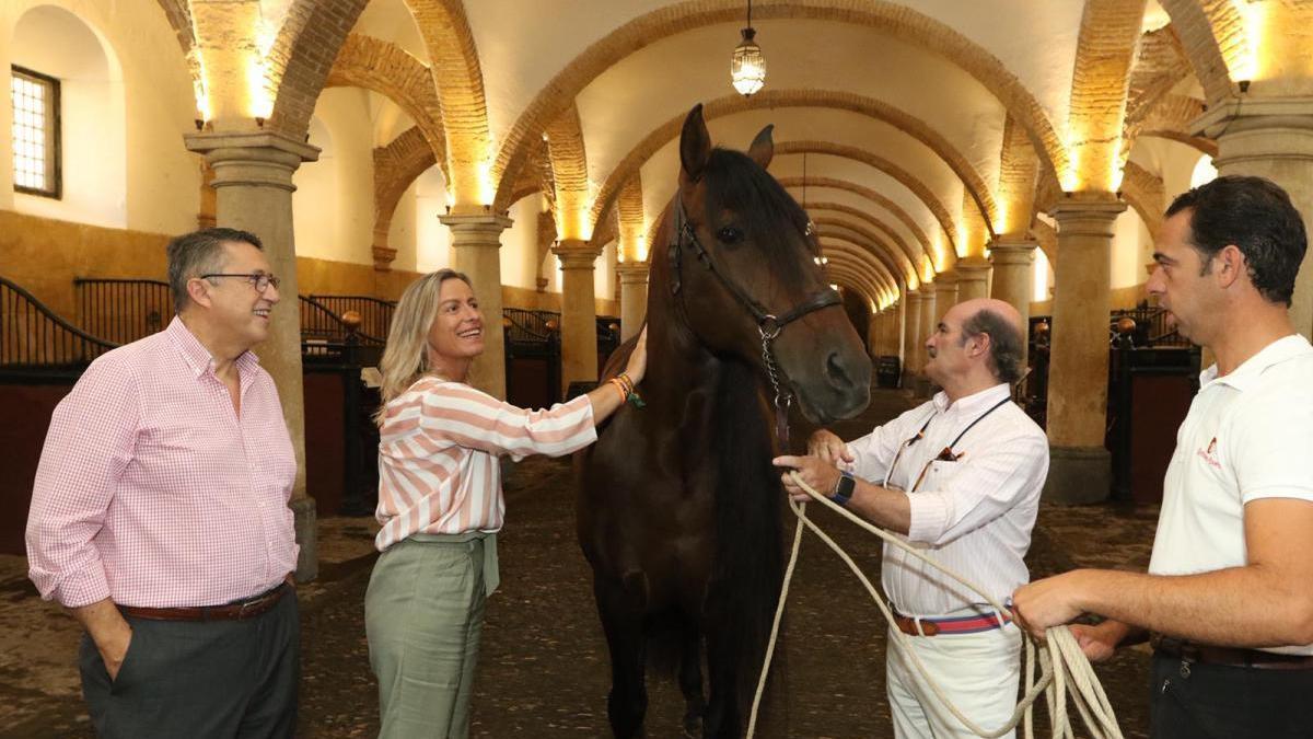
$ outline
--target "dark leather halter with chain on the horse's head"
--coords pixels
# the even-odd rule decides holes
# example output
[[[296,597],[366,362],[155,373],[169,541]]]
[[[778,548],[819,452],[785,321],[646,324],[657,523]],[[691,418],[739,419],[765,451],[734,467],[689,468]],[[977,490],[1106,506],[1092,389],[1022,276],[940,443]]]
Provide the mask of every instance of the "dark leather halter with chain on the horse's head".
[[[810,224],[807,224],[807,233],[810,233]],[[693,255],[697,256],[697,260],[701,262],[712,272],[712,275],[721,281],[722,285],[725,285],[725,289],[730,291],[730,295],[738,300],[739,305],[747,309],[747,312],[752,314],[752,318],[756,318],[756,330],[762,335],[762,360],[765,363],[765,371],[771,379],[771,387],[775,389],[775,435],[780,441],[781,451],[788,451],[789,405],[793,404],[793,393],[780,381],[780,370],[775,363],[775,351],[772,345],[789,323],[802,318],[807,313],[829,308],[831,305],[839,305],[842,302],[839,293],[832,289],[821,291],[811,295],[783,316],[771,313],[752,296],[750,296],[738,283],[735,283],[716,262],[712,252],[706,251],[706,247],[704,247],[702,242],[697,238],[697,231],[693,230],[692,224],[688,221],[688,214],[684,212],[684,199],[681,193],[675,193],[675,238],[671,241],[668,247],[671,295],[679,295],[683,288],[680,254],[685,247],[691,249]]]

